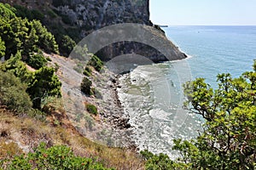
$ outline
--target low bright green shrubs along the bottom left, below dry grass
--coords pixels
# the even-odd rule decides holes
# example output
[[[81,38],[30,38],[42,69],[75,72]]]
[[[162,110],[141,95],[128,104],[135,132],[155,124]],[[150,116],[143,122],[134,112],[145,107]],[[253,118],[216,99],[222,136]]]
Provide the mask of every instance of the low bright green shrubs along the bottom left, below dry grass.
[[[73,151],[67,146],[56,145],[46,148],[44,143],[27,156],[15,156],[13,160],[5,161],[8,169],[108,169],[94,159],[74,156]]]

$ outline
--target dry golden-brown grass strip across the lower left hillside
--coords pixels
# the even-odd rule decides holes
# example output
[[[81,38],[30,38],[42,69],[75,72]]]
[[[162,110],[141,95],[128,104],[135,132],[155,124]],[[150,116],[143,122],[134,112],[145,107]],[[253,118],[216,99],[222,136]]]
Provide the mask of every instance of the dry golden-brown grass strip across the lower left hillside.
[[[144,169],[143,160],[134,151],[93,143],[76,131],[63,112],[51,111],[48,122],[40,122],[0,109],[0,133],[3,134],[0,136],[0,159],[32,151],[44,142],[48,146],[68,145],[75,155],[97,157],[106,167]],[[54,124],[55,119],[60,122],[59,125]]]

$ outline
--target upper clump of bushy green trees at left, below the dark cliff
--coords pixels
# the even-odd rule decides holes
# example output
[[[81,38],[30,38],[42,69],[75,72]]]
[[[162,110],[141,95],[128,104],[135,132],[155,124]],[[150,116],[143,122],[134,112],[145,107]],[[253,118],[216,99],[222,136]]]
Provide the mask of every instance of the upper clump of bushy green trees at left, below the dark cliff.
[[[58,53],[55,37],[40,21],[21,19],[14,11],[16,9],[9,4],[0,3],[0,37],[5,44],[5,59],[20,51],[22,59],[26,60],[29,54],[37,53],[38,48]]]

